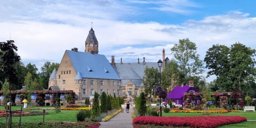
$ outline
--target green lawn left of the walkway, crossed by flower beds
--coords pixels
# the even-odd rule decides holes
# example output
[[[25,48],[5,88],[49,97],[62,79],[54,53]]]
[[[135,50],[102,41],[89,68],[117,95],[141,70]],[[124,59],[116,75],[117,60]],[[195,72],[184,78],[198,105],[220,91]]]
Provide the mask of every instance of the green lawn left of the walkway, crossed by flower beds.
[[[32,107],[36,108],[36,107]],[[46,108],[46,107],[40,107]],[[12,107],[12,110],[20,110],[20,107]],[[43,111],[43,110],[30,110],[30,111]],[[57,122],[57,121],[76,121],[77,111],[61,110],[60,113],[56,113],[54,110],[45,110],[49,114],[45,115],[45,122]],[[6,118],[0,118],[0,122],[5,123]],[[26,122],[43,122],[43,115],[40,116],[22,116],[22,123]],[[19,122],[19,117],[12,117],[12,122]]]

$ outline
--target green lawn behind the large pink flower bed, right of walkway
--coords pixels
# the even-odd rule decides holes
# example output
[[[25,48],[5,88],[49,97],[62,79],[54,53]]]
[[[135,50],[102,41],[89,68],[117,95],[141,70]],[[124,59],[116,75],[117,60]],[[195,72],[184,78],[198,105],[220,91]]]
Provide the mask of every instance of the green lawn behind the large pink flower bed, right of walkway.
[[[202,113],[162,113],[162,116],[206,116]],[[208,116],[208,115],[207,115]],[[228,112],[224,114],[210,114],[210,116],[244,116],[247,120],[256,120],[256,112],[253,111],[240,111],[240,112]],[[220,126],[218,128],[256,128],[256,121],[246,121],[242,123],[229,124],[225,126]]]

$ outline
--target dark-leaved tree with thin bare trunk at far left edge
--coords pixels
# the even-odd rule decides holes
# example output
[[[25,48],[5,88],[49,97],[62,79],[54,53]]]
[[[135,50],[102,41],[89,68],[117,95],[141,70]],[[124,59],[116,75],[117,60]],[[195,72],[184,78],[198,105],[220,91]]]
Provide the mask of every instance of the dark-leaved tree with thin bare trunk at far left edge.
[[[9,91],[12,91],[12,88],[15,87],[19,79],[17,78],[17,73],[15,69],[15,64],[20,61],[20,56],[17,55],[15,51],[18,48],[14,45],[14,40],[7,40],[7,42],[0,42],[0,70],[5,75],[5,79],[9,82]],[[13,86],[12,86],[13,85]],[[12,95],[11,95],[12,99]],[[12,113],[12,103],[10,104],[9,111]],[[7,119],[8,120],[8,119]],[[6,121],[7,122],[7,121]],[[9,114],[9,121],[7,123],[8,127],[12,127],[12,114]]]

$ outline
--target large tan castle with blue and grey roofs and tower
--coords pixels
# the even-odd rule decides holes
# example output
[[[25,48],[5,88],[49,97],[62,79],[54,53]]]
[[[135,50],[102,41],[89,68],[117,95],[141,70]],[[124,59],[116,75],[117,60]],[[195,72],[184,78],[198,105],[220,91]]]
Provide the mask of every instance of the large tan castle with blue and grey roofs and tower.
[[[137,63],[115,62],[111,57],[111,63],[104,55],[98,54],[99,43],[91,28],[85,40],[85,52],[79,52],[77,48],[66,50],[59,69],[54,69],[49,78],[49,88],[56,90],[73,90],[78,98],[93,97],[95,92],[116,96],[131,97],[140,95],[144,91],[142,77],[146,66],[159,70],[157,62],[143,62],[138,58]],[[163,50],[163,58],[165,51]],[[163,66],[169,62],[164,59]],[[164,67],[165,68],[165,67]],[[161,68],[161,71],[164,69]]]

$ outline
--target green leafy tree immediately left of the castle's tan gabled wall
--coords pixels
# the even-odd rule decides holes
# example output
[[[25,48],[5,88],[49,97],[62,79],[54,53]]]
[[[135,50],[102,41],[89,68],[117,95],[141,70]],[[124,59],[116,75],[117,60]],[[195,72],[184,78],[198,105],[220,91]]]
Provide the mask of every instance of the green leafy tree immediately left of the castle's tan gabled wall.
[[[54,62],[45,62],[45,64],[41,67],[41,73],[39,73],[39,79],[40,79],[40,83],[43,85],[43,88],[48,88],[48,82],[49,82],[49,78],[50,75],[54,69],[54,67],[56,67],[56,69],[59,68],[59,63],[54,63]]]

